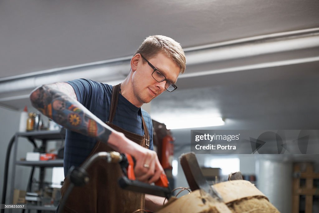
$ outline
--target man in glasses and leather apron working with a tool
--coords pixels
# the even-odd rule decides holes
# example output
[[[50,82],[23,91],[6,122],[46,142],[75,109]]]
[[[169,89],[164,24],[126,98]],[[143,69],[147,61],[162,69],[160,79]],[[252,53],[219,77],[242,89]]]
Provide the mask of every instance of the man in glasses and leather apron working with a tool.
[[[149,36],[132,57],[130,73],[119,85],[80,79],[35,89],[30,95],[33,106],[68,129],[64,174],[96,152],[115,150],[136,159],[137,180],[153,183],[159,179],[164,170],[152,151],[152,120],[140,107],[165,90],[175,90],[185,63],[179,43],[166,36]],[[162,198],[144,198],[144,194],[122,190],[117,185],[122,175],[118,164],[99,161],[88,173],[90,182],[73,189],[65,212],[131,213],[144,209],[144,201],[145,208],[152,211],[163,204]],[[68,185],[65,179],[62,195]]]

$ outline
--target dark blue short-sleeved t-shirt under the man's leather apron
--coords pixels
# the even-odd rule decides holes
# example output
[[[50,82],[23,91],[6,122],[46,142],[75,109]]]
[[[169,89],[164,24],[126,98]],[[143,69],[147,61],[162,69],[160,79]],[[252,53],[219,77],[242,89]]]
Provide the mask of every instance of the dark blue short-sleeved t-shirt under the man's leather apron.
[[[73,87],[78,102],[84,105],[103,122],[108,121],[113,86],[86,79],[67,81],[67,83]],[[112,123],[132,133],[144,135],[141,113],[148,127],[150,149],[153,150],[153,126],[151,116],[145,110],[130,103],[121,94],[119,95],[119,101]],[[92,137],[70,130],[66,131],[64,176],[68,174],[69,168],[72,165],[79,166],[85,161],[96,142],[97,140]]]

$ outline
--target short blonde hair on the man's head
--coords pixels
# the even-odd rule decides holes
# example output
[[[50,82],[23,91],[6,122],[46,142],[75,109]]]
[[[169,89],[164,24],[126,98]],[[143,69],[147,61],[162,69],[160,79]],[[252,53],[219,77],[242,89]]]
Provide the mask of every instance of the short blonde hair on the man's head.
[[[167,36],[152,35],[147,37],[134,55],[139,53],[149,59],[161,51],[165,52],[168,57],[173,59],[173,61],[179,66],[181,74],[184,73],[186,68],[185,53],[180,43]],[[143,63],[145,63],[145,61],[143,61]]]

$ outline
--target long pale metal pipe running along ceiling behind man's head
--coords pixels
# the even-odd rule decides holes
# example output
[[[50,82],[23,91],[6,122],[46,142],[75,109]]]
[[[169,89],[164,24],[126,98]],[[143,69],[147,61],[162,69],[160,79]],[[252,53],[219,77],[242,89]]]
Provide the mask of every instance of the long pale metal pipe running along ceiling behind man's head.
[[[293,33],[295,32],[295,33]],[[283,37],[283,36],[288,37]],[[248,59],[247,65],[225,67],[224,69],[201,71],[193,68],[180,78],[189,78],[199,75],[210,75],[221,72],[236,72],[252,68],[264,68],[279,65],[319,61],[319,54],[307,58],[289,57],[289,52],[302,49],[319,47],[319,28],[286,32],[241,39],[237,41],[221,42],[219,44],[185,48],[187,66],[203,63],[216,63],[229,60]],[[286,60],[258,63],[256,59],[249,61],[254,56],[265,56],[274,53],[286,52]],[[37,86],[58,81],[72,80],[75,78],[89,78],[100,82],[123,80],[130,70],[130,57],[123,57],[97,63],[76,65],[46,71],[28,73],[0,79],[0,102],[8,99],[19,99],[19,91],[30,91]]]

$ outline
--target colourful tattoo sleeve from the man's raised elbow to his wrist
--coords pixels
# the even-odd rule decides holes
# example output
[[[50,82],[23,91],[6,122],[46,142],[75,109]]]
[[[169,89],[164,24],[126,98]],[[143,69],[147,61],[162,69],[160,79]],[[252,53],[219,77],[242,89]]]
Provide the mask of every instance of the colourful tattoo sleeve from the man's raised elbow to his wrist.
[[[107,142],[113,129],[79,103],[71,86],[65,84],[38,87],[30,95],[32,105],[67,129]]]

